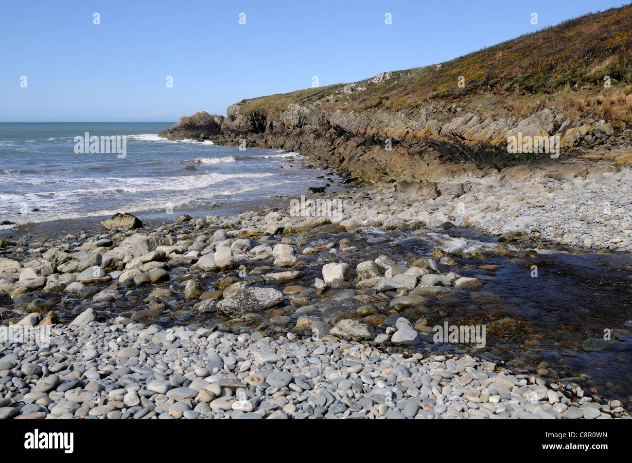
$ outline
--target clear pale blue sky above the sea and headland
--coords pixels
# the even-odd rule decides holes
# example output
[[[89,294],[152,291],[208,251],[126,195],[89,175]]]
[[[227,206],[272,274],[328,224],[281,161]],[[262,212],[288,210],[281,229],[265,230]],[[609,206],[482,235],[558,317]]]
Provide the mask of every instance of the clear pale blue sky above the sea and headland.
[[[226,114],[241,99],[311,87],[313,76],[322,86],[441,63],[622,4],[2,0],[0,121],[164,122],[200,110]]]

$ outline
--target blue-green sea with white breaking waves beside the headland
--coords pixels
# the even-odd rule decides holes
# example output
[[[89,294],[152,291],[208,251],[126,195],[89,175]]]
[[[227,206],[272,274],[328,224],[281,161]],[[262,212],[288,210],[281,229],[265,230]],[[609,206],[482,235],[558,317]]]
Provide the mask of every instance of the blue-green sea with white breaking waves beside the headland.
[[[32,224],[116,212],[143,217],[300,196],[323,171],[298,153],[170,141],[173,123],[0,123],[0,222]],[[126,136],[117,153],[76,153],[75,137]],[[172,212],[173,210],[173,212]],[[171,215],[170,217],[173,217]],[[7,225],[3,225],[4,228]]]

